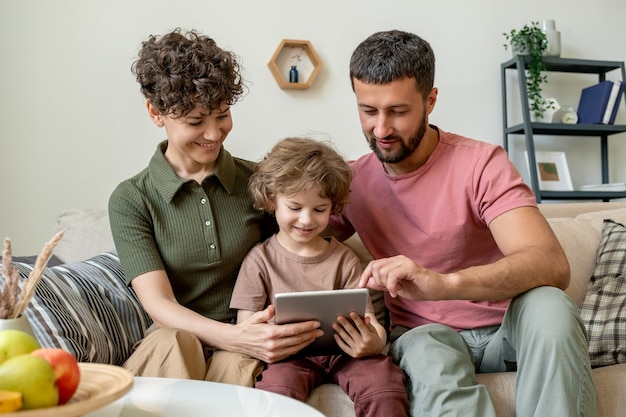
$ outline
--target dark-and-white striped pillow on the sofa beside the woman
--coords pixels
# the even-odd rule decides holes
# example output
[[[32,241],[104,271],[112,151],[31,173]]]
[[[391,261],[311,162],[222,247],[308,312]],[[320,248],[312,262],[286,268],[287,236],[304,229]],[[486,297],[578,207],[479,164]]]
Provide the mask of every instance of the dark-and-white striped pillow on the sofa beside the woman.
[[[23,283],[33,265],[14,265]],[[151,324],[114,252],[46,268],[25,315],[42,346],[114,365],[130,356]]]

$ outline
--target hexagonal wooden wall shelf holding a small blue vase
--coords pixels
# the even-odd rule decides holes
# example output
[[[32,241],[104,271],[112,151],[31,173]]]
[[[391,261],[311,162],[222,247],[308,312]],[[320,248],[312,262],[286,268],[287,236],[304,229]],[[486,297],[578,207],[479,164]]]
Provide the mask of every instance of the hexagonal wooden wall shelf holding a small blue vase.
[[[292,65],[298,68],[299,82],[289,82]],[[313,85],[322,61],[309,41],[283,39],[267,64],[282,89],[305,90]]]

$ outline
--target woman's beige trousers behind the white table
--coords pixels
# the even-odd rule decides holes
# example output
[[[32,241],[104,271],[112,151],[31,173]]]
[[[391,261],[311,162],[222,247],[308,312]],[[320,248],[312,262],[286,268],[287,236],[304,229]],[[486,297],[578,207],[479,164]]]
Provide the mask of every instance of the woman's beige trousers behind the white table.
[[[135,376],[197,379],[254,387],[263,362],[247,355],[211,350],[180,329],[150,331],[123,364]]]

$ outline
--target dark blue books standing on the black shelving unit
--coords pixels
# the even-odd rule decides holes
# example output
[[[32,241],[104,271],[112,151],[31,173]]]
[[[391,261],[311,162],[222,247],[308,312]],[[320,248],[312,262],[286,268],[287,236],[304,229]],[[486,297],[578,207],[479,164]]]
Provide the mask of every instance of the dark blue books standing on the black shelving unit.
[[[612,125],[623,94],[622,81],[606,80],[583,88],[578,102],[578,123]]]

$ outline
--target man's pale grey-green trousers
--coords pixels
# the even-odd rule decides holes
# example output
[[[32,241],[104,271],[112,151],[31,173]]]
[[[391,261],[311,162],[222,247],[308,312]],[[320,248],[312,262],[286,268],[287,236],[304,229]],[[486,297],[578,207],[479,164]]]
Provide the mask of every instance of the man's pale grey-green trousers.
[[[514,298],[498,327],[408,330],[393,341],[390,354],[408,376],[414,417],[495,417],[475,374],[514,369],[517,417],[595,416],[586,330],[576,305],[557,288]]]

